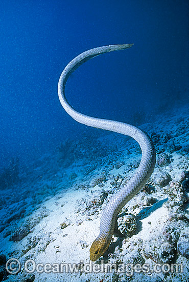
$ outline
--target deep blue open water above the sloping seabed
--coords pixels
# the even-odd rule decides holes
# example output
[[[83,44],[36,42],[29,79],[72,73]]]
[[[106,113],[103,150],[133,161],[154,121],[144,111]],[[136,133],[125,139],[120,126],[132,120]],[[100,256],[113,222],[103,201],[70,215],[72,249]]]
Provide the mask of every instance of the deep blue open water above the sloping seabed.
[[[98,56],[70,76],[65,92],[77,111],[140,126],[187,106],[188,11],[186,0],[1,0],[0,189],[13,189],[16,199],[20,183],[26,182],[27,190],[35,178],[54,177],[48,172],[61,166],[57,150],[65,160],[61,160],[63,167],[68,167],[74,156],[67,159],[66,150],[72,154],[70,148],[78,146],[74,152],[80,159],[80,151],[90,150],[87,138],[108,134],[78,124],[58,98],[62,70],[83,51],[134,44],[128,50]],[[46,166],[42,176],[36,165],[39,159]],[[30,198],[33,203],[32,187],[28,206]],[[2,209],[8,205],[3,201],[4,194]],[[40,205],[39,200],[35,205]]]

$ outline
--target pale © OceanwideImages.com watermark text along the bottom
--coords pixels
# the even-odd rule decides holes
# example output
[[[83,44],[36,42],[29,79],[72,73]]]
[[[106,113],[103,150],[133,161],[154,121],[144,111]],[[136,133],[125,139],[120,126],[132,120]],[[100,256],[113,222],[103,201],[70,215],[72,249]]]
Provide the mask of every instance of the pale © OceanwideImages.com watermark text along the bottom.
[[[134,273],[183,273],[182,264],[158,264],[153,266],[149,264],[101,264],[83,263],[80,260],[79,264],[76,263],[36,263],[33,259],[28,259],[22,266],[20,261],[16,258],[7,260],[6,269],[9,274],[17,274],[21,269],[25,269],[27,273],[125,273],[127,276],[133,276]]]

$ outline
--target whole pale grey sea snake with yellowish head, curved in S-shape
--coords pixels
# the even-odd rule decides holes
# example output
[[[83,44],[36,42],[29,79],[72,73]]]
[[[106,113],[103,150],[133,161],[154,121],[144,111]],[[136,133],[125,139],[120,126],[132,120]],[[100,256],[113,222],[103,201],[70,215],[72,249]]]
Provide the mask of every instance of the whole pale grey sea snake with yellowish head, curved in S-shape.
[[[142,152],[140,165],[134,176],[125,184],[125,186],[121,188],[119,192],[115,193],[110,198],[102,213],[99,236],[95,239],[95,241],[93,241],[90,248],[90,259],[92,261],[96,261],[108,249],[114,232],[117,215],[120,213],[121,209],[147,183],[155,167],[156,152],[151,138],[137,127],[116,122],[115,120],[87,116],[74,110],[66,100],[64,89],[70,74],[84,62],[110,51],[128,49],[132,45],[133,44],[108,45],[87,50],[69,62],[61,73],[58,82],[60,103],[65,111],[77,120],[77,122],[87,126],[110,130],[130,136],[138,142]]]

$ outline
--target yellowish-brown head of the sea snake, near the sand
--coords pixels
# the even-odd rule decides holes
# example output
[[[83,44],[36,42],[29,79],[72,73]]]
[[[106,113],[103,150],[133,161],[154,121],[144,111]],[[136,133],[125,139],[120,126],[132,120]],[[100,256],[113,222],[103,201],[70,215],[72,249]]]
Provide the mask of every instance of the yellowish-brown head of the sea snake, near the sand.
[[[110,241],[111,239],[106,240],[105,238],[98,236],[90,247],[90,260],[96,261],[99,259],[99,257],[108,249]]]

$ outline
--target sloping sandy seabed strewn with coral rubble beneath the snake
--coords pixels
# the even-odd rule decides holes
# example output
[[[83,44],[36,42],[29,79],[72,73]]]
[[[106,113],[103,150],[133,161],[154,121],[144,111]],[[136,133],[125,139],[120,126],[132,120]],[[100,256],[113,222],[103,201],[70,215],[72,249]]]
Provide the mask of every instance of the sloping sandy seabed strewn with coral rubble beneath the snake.
[[[102,210],[112,194],[132,177],[140,162],[140,148],[120,134],[66,140],[53,155],[44,155],[20,181],[1,191],[0,263],[6,281],[188,281],[189,279],[189,109],[159,115],[141,125],[153,139],[157,163],[147,185],[123,208],[119,231],[92,273],[89,249],[99,234]],[[29,173],[30,171],[30,173]],[[6,256],[3,256],[3,254]],[[5,272],[5,260],[20,261],[18,274]],[[26,261],[41,264],[27,273]],[[114,264],[112,273],[100,273],[102,263]],[[50,264],[46,265],[45,264]],[[56,264],[56,265],[55,265]],[[58,273],[61,264],[76,271]],[[116,266],[148,264],[139,273]],[[159,264],[182,264],[183,273],[155,273]],[[54,265],[52,271],[51,266]],[[55,267],[56,266],[56,267]],[[64,265],[65,266],[65,265]],[[91,266],[91,265],[90,265]],[[45,271],[43,271],[45,268]],[[31,264],[28,264],[31,270]],[[95,269],[95,270],[94,270]],[[164,267],[169,270],[169,266]],[[49,273],[47,273],[49,271]],[[130,273],[131,275],[128,275]],[[4,277],[4,278],[3,278]]]

